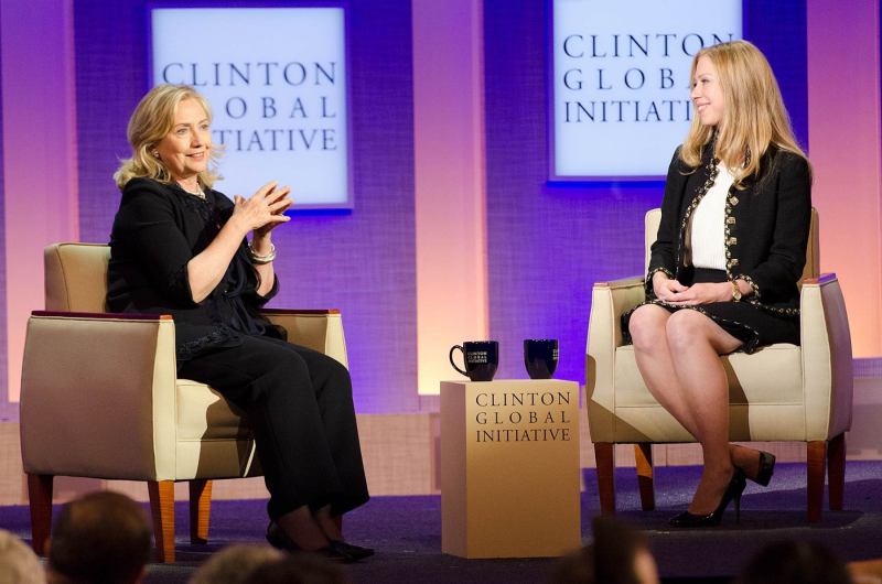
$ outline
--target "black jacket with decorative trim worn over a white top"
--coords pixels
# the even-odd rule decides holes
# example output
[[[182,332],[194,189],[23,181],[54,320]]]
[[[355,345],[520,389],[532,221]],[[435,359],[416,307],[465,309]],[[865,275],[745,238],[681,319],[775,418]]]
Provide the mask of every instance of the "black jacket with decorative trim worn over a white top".
[[[692,210],[713,184],[716,162],[710,151],[699,169],[690,169],[674,153],[668,169],[662,223],[652,247],[646,279],[664,271],[684,284],[691,283],[692,267],[685,262],[686,231]],[[749,301],[775,313],[798,314],[797,282],[806,262],[811,221],[811,176],[808,161],[774,147],[763,156],[762,175],[747,179],[743,188],[730,188],[725,202],[727,277],[745,280],[754,294]]]

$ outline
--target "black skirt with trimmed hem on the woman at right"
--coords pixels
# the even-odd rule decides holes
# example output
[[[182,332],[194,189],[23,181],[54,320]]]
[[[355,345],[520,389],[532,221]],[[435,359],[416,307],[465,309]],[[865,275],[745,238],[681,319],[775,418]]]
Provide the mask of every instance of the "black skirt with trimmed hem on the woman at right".
[[[698,282],[725,282],[727,275],[723,270],[695,269],[695,278],[691,285]],[[759,302],[711,302],[709,304],[698,304],[695,306],[681,306],[668,304],[657,299],[647,300],[644,304],[655,304],[669,312],[680,310],[698,311],[717,323],[723,331],[738,338],[743,345],[738,349],[744,353],[753,353],[757,347],[773,345],[775,343],[799,344],[799,315],[784,315],[773,313],[764,309]],[[622,336],[626,345],[631,344],[631,331],[628,324],[631,315],[639,306],[627,311],[622,315]]]

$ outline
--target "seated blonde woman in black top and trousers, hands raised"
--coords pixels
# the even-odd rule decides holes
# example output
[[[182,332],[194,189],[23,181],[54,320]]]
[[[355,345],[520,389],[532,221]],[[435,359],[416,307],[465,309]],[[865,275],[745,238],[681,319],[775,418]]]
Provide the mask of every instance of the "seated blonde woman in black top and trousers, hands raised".
[[[217,179],[211,109],[192,87],[160,85],[136,108],[132,158],[115,174],[108,306],[175,322],[179,376],[241,408],[270,493],[277,547],[356,560],[338,518],[368,499],[352,385],[331,357],[290,345],[258,310],[278,291],[275,227],[290,188],[275,182],[230,202]],[[247,236],[250,235],[250,244]]]

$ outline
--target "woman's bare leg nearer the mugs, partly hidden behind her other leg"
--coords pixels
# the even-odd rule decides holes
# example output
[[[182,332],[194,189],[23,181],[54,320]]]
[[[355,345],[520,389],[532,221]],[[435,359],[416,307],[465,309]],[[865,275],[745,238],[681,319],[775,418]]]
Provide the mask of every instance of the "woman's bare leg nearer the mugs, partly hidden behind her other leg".
[[[698,424],[674,370],[667,337],[671,313],[662,306],[645,304],[634,311],[628,331],[634,340],[634,358],[649,393],[696,439]]]

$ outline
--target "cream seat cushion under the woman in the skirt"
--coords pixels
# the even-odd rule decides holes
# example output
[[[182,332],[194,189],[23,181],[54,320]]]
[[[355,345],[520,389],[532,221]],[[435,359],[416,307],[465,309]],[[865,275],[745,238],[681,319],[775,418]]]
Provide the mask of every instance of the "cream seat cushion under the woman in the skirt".
[[[752,355],[733,353],[722,357],[729,377],[731,404],[804,403],[803,354],[796,345],[779,343]],[[770,383],[770,379],[776,382]],[[615,349],[615,407],[655,405],[634,360],[634,346]]]

